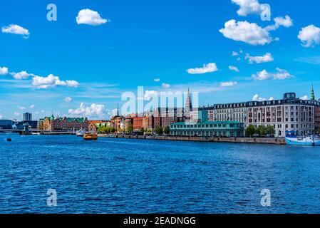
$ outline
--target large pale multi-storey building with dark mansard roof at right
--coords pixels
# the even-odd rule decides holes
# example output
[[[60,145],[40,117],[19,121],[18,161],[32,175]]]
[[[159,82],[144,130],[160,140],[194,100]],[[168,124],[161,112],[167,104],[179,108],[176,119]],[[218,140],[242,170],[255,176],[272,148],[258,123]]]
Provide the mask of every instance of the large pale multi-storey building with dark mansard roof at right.
[[[214,105],[208,113],[209,120],[238,121],[244,128],[254,125],[273,126],[276,137],[284,137],[294,130],[300,135],[315,133],[315,100],[301,100],[296,93],[285,93],[281,100],[249,101]]]

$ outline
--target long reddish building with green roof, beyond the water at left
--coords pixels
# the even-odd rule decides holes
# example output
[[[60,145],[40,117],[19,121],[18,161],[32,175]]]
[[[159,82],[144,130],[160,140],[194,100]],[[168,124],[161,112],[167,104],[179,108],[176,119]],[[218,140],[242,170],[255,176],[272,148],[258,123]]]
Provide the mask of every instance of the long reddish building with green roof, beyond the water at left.
[[[87,118],[55,118],[51,115],[51,117],[44,118],[41,125],[44,131],[88,130],[89,121]]]

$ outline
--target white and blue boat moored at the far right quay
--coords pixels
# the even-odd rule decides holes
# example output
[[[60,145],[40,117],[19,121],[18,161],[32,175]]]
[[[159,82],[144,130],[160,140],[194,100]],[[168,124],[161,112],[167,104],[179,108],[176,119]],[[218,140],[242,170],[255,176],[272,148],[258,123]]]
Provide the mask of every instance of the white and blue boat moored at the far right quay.
[[[291,131],[286,133],[287,145],[304,145],[317,146],[320,145],[320,139],[317,136],[298,136],[296,132]]]

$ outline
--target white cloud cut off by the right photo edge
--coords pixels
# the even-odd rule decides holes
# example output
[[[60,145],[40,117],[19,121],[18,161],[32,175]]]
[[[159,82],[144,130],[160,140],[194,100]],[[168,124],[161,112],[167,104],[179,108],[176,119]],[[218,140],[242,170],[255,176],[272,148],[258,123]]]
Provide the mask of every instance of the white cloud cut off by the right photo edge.
[[[306,26],[299,31],[299,40],[302,42],[302,46],[310,48],[320,43],[320,28],[314,26]]]

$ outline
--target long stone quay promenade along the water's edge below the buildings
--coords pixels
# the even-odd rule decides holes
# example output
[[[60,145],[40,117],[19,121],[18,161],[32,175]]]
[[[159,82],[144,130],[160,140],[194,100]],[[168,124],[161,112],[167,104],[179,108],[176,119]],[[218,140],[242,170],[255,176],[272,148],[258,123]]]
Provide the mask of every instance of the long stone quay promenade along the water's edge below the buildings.
[[[180,136],[144,136],[144,135],[99,135],[106,138],[124,138],[139,140],[170,140],[170,141],[191,141],[191,142],[238,142],[238,143],[260,143],[286,145],[284,138],[201,138],[201,137],[180,137]]]

